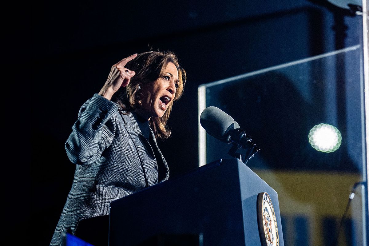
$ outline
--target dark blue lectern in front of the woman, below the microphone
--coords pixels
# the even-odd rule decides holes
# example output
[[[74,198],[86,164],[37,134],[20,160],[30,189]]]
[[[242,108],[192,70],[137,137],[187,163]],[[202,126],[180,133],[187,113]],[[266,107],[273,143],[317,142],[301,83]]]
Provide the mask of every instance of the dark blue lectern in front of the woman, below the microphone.
[[[209,163],[111,202],[109,246],[141,245],[161,234],[201,235],[204,246],[262,245],[257,218],[262,192],[273,203],[284,246],[276,191],[238,159]]]

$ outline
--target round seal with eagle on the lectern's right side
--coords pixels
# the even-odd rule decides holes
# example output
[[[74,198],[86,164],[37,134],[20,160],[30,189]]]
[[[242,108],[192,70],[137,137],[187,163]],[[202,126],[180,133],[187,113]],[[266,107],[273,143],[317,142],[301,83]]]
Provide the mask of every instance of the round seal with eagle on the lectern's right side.
[[[259,193],[256,203],[261,245],[279,246],[277,220],[268,193]]]

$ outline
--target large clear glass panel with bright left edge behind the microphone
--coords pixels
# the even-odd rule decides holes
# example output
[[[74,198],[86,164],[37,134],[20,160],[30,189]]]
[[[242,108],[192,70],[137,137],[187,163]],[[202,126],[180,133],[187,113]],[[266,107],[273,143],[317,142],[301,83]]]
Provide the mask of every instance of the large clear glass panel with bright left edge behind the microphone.
[[[366,245],[363,88],[360,45],[199,86],[199,115],[220,108],[261,148],[246,164],[278,193],[286,246]],[[199,124],[200,165],[230,148]]]

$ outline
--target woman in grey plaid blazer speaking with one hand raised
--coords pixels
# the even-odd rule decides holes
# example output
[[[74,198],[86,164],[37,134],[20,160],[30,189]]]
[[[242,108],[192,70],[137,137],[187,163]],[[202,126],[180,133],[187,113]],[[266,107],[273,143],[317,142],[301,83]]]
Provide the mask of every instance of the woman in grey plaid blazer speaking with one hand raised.
[[[108,215],[110,202],[168,179],[156,139],[170,137],[166,122],[185,81],[171,52],[134,54],[111,67],[65,143],[76,171],[50,245],[62,245],[62,233],[74,234],[82,219]]]

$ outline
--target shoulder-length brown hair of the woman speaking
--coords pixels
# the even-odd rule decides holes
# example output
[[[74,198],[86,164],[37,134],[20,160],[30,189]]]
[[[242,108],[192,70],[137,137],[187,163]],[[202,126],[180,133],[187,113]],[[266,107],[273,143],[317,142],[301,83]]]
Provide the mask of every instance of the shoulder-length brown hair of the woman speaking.
[[[179,65],[177,56],[168,51],[148,51],[140,53],[137,57],[125,65],[126,68],[136,72],[130,83],[126,87],[121,87],[111,98],[112,101],[118,104],[122,114],[129,114],[135,109],[141,107],[142,94],[139,91],[139,86],[146,83],[152,83],[164,76],[165,68],[169,62],[172,62],[178,70],[178,88],[173,101],[178,100],[183,94],[183,87],[186,83],[186,71]],[[150,126],[154,131],[156,139],[165,140],[170,137],[172,132],[166,125],[172,111],[173,103],[171,103],[164,115],[150,118]]]

